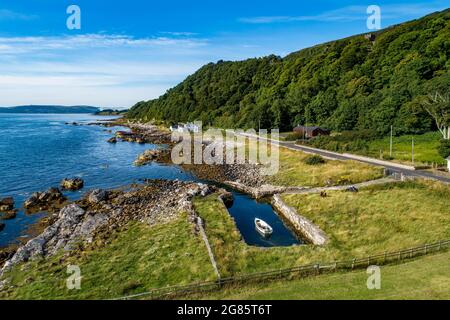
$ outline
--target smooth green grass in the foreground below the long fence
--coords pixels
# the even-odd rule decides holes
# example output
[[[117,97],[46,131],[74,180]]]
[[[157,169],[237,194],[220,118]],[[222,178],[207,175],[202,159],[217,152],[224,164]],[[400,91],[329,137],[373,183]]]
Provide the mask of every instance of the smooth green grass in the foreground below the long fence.
[[[381,288],[367,289],[365,270],[227,288],[201,299],[450,299],[450,252],[381,267]]]

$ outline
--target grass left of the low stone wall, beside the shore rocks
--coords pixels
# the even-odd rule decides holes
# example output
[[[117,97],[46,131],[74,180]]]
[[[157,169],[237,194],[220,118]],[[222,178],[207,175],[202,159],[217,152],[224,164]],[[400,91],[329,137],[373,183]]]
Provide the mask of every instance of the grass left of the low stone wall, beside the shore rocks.
[[[68,265],[81,269],[80,290],[66,288]],[[1,299],[116,298],[215,279],[206,247],[184,216],[153,227],[134,223],[102,248],[29,262],[6,277],[11,277],[13,288],[1,292]]]

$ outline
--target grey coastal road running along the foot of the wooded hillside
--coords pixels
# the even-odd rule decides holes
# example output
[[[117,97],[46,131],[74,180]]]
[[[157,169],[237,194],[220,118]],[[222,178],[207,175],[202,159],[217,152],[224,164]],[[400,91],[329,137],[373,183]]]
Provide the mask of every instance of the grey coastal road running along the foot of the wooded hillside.
[[[307,153],[317,154],[317,155],[320,155],[325,158],[330,158],[330,159],[334,159],[334,160],[359,161],[362,163],[367,163],[367,164],[378,166],[378,167],[384,167],[384,168],[390,170],[391,172],[402,173],[406,176],[413,176],[413,177],[419,177],[419,178],[425,178],[425,179],[433,179],[433,180],[437,180],[440,182],[450,184],[449,177],[438,176],[438,175],[433,174],[432,172],[428,172],[428,171],[410,170],[410,169],[406,169],[406,168],[401,168],[401,167],[397,167],[395,164],[389,165],[386,163],[380,163],[376,159],[371,160],[370,158],[355,159],[355,158],[351,157],[350,155],[339,154],[339,153],[322,150],[322,149],[317,149],[317,148],[305,147],[305,146],[297,145],[293,142],[284,142],[284,141],[273,140],[270,138],[261,138],[261,137],[258,137],[255,135],[250,135],[250,134],[239,134],[239,135],[247,136],[247,137],[255,138],[255,139],[267,140],[274,145],[285,147],[285,148],[288,148],[291,150],[298,150],[298,151],[303,151],[303,152],[307,152]]]

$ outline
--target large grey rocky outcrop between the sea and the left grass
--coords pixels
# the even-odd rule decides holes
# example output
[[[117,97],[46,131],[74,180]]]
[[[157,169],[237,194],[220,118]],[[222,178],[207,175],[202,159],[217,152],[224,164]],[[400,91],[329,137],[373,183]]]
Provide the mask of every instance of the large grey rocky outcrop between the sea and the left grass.
[[[181,212],[191,212],[191,199],[220,191],[214,186],[179,180],[147,180],[129,190],[93,190],[64,206],[45,230],[17,249],[2,267],[52,256],[61,250],[70,254],[80,245],[103,246],[112,232],[130,221],[148,225],[171,221]],[[222,191],[226,194],[225,191]],[[192,214],[191,214],[192,215]],[[189,216],[195,232],[196,217]]]

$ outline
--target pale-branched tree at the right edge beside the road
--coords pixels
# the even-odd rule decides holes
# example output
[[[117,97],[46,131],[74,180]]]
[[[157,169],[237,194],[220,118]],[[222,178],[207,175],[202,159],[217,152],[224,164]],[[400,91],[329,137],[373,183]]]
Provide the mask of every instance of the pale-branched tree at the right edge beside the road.
[[[422,106],[436,122],[442,137],[450,139],[450,94],[436,91],[423,99]]]

